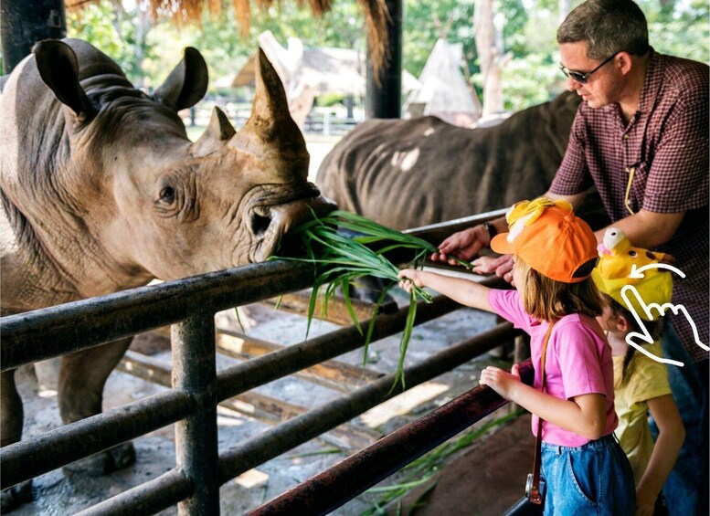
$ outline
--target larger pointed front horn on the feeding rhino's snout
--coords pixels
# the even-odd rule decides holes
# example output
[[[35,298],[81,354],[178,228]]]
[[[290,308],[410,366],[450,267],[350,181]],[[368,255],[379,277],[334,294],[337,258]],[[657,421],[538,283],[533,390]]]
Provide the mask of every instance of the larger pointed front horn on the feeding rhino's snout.
[[[255,68],[256,92],[251,116],[229,145],[254,154],[284,174],[298,171],[305,179],[309,160],[305,140],[291,119],[281,79],[261,49]],[[283,170],[284,167],[288,170]]]

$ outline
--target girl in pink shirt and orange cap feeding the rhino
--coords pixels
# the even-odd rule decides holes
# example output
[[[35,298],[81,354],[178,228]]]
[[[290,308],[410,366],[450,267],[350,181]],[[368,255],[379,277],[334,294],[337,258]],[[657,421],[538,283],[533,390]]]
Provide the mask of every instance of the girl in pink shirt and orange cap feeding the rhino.
[[[631,466],[613,437],[618,420],[611,349],[595,319],[602,304],[589,278],[597,239],[566,201],[523,201],[506,218],[510,231],[494,237],[491,248],[514,255],[515,290],[416,269],[402,270],[400,285],[429,287],[466,306],[496,312],[530,335],[534,384],[520,381],[517,365],[510,373],[486,367],[481,384],[529,410],[535,435],[543,420],[545,514],[633,514]],[[551,325],[543,390],[540,365]]]

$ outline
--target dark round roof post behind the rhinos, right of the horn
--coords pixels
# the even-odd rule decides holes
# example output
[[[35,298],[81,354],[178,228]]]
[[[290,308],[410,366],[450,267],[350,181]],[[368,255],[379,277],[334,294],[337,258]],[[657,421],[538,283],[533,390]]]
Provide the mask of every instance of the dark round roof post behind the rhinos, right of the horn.
[[[385,0],[391,23],[387,23],[389,59],[375,80],[370,59],[367,59],[366,118],[400,118],[402,114],[402,0]],[[369,53],[368,53],[369,54]],[[368,56],[369,57],[369,56]]]

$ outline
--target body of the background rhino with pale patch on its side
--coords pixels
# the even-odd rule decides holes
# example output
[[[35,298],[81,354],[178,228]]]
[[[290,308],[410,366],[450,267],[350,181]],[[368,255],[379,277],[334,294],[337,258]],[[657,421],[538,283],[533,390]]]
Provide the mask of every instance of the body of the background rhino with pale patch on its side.
[[[546,192],[578,105],[567,92],[481,129],[432,116],[365,121],[315,182],[341,209],[397,229],[502,208]]]

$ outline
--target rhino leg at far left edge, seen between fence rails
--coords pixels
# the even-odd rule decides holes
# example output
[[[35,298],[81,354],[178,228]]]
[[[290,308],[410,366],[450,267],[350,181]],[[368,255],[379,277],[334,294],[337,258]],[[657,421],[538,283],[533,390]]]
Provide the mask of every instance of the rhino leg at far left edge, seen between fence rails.
[[[15,369],[0,374],[0,446],[16,443],[22,437],[22,399],[17,394]],[[0,512],[12,511],[32,500],[32,480],[0,493]]]

